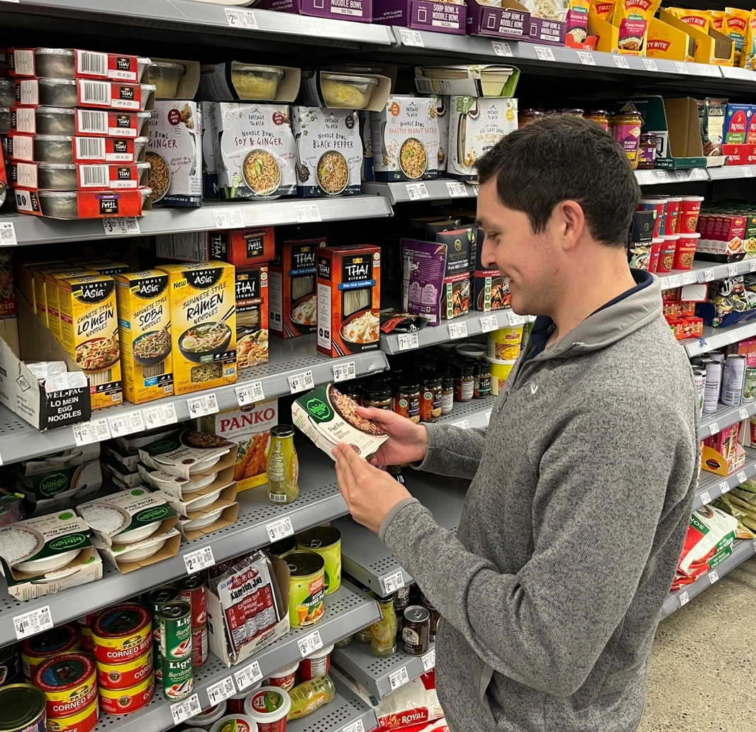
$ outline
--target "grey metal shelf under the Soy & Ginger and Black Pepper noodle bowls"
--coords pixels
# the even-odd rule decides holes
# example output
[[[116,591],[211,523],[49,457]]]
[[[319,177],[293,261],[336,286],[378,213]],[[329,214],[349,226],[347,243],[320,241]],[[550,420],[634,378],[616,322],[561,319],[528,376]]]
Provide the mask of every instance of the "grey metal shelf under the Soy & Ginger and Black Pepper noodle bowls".
[[[178,2],[178,0],[177,0]],[[184,5],[202,5],[200,2],[184,2]],[[162,5],[162,3],[161,3]],[[212,8],[214,6],[209,5]],[[278,13],[278,15],[282,15]],[[380,27],[380,26],[379,26]],[[155,208],[136,221],[137,228],[128,236],[142,234],[177,233],[181,231],[204,231],[230,229],[243,226],[279,226],[281,224],[306,224],[311,221],[345,221],[355,218],[386,218],[392,215],[388,199],[381,196],[345,196],[343,198],[280,199],[269,202],[239,201],[228,204],[206,203],[200,208]],[[234,215],[237,215],[234,218]],[[0,221],[11,221],[19,245],[78,242],[85,239],[103,239],[106,229],[103,222],[110,219],[84,219],[57,221],[29,215],[3,215]],[[233,223],[231,223],[233,222]],[[107,236],[119,236],[107,232]]]

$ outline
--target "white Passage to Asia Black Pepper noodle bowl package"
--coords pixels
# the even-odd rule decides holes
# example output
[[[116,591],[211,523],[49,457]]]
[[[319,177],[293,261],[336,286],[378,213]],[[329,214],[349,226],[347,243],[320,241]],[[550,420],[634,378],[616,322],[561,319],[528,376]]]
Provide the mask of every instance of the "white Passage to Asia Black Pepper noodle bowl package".
[[[357,196],[361,192],[362,141],[352,110],[292,107],[300,196]]]

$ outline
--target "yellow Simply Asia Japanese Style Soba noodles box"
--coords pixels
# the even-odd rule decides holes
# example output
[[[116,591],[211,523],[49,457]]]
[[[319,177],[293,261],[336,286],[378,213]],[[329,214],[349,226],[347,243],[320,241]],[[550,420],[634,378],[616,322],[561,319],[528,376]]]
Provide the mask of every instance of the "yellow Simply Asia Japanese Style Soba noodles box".
[[[134,404],[173,394],[168,274],[116,274],[123,393]]]

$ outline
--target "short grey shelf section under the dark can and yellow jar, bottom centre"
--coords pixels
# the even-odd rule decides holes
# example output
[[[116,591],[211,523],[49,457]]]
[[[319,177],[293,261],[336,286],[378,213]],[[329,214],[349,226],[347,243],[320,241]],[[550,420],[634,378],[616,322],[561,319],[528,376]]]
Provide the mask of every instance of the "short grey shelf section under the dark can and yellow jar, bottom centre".
[[[352,641],[333,650],[331,662],[380,700],[434,668],[435,643],[424,656],[408,656],[398,650],[393,656],[378,658],[369,645]]]

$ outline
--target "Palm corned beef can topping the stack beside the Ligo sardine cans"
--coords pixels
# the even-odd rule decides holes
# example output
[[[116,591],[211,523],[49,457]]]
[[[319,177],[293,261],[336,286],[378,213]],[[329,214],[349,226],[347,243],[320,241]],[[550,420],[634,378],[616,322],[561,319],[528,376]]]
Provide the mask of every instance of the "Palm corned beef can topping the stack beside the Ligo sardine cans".
[[[92,645],[98,663],[129,663],[144,656],[152,645],[147,608],[123,603],[98,613],[92,623]]]

